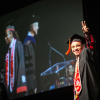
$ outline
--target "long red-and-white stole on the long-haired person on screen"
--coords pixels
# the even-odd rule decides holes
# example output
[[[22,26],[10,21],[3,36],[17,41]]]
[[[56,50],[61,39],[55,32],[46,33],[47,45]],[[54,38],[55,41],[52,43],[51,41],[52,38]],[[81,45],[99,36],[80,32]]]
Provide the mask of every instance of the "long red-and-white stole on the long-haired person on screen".
[[[9,55],[9,53],[6,54],[6,70],[5,70],[5,84],[6,88],[10,86],[10,92],[12,92],[14,87],[14,51],[15,51],[16,39],[13,39],[12,42],[13,43],[11,47],[11,55]],[[9,56],[11,56],[10,59]],[[10,83],[9,83],[9,75],[10,75]]]

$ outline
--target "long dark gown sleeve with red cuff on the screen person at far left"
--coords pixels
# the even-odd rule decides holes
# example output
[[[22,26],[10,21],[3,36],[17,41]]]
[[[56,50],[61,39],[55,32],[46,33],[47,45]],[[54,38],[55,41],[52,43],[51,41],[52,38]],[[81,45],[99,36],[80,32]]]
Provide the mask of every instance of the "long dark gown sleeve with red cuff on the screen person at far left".
[[[24,63],[24,51],[23,45],[20,41],[17,41],[17,62],[16,62],[16,78],[17,78],[17,93],[27,91],[26,75],[25,75],[25,63]]]

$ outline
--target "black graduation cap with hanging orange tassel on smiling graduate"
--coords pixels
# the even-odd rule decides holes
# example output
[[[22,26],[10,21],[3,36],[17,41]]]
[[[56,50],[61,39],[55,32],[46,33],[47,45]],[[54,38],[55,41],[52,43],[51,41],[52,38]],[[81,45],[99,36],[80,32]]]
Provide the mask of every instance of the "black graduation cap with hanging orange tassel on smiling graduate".
[[[69,44],[69,49],[68,51],[65,53],[66,55],[68,55],[70,53],[70,50],[71,50],[71,43],[72,42],[81,42],[82,44],[85,44],[86,40],[83,36],[80,36],[78,34],[74,34],[72,37],[69,38],[69,40],[67,41],[67,44]]]

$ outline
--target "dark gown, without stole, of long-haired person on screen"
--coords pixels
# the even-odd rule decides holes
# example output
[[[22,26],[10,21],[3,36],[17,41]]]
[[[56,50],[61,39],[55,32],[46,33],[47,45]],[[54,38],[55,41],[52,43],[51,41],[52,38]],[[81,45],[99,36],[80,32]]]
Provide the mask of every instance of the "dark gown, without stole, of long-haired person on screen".
[[[12,93],[10,93],[9,88],[7,89],[8,98],[9,99],[15,99],[19,97],[25,96],[26,91],[17,93],[17,89],[21,88],[24,90],[24,87],[27,89],[26,82],[22,81],[22,76],[25,76],[25,63],[24,63],[24,51],[23,51],[23,45],[20,41],[16,40],[15,44],[15,73],[14,73],[14,87]]]

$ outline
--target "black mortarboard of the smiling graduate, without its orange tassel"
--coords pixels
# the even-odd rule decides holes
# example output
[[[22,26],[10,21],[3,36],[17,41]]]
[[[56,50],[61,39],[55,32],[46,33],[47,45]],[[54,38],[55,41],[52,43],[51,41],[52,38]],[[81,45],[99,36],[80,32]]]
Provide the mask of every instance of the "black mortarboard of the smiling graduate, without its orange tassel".
[[[80,36],[78,34],[74,34],[72,37],[70,37],[70,42],[74,42],[74,41],[79,41],[81,42],[82,44],[85,44],[86,40],[83,36]],[[69,44],[69,40],[67,41],[67,44]]]

